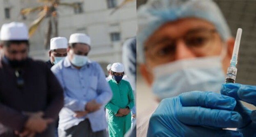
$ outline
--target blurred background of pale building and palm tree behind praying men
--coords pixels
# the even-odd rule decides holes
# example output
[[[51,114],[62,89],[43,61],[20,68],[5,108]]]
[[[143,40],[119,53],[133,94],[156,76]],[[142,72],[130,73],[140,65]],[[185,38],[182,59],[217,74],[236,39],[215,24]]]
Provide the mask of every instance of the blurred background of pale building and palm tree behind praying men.
[[[91,37],[89,58],[106,66],[122,62],[123,42],[136,35],[135,0],[0,0],[0,24],[30,27],[30,56],[48,60],[50,38]]]

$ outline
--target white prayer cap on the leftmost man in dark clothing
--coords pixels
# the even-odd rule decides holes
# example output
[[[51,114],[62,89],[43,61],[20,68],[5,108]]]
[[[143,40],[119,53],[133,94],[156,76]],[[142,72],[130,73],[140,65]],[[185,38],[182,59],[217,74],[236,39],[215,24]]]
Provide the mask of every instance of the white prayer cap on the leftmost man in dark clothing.
[[[22,22],[11,22],[2,25],[0,40],[28,40],[27,26]]]

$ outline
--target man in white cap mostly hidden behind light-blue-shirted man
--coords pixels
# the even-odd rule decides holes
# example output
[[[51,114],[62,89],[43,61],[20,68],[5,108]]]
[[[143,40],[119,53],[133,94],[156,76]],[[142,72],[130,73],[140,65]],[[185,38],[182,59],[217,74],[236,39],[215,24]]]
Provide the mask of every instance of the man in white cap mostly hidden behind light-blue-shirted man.
[[[51,68],[67,55],[68,41],[64,37],[55,37],[50,40],[49,57],[46,64]]]

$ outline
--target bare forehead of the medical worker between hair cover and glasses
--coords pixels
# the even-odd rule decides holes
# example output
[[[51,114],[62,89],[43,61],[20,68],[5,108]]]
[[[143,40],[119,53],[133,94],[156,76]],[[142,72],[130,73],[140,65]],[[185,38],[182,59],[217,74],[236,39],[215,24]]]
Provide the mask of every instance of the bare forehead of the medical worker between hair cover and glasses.
[[[174,22],[167,22],[156,30],[144,44],[147,44],[151,40],[162,38],[163,36],[170,38],[181,37],[187,31],[193,29],[215,29],[215,26],[206,20],[198,18],[184,18]]]

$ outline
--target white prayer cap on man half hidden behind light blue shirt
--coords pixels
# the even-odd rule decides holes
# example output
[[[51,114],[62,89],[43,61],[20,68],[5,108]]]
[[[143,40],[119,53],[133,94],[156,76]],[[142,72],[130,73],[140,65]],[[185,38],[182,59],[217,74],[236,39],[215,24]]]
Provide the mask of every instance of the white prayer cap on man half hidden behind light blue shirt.
[[[50,40],[50,50],[53,49],[67,49],[68,40],[64,37],[55,37]]]

